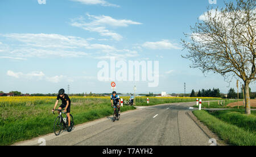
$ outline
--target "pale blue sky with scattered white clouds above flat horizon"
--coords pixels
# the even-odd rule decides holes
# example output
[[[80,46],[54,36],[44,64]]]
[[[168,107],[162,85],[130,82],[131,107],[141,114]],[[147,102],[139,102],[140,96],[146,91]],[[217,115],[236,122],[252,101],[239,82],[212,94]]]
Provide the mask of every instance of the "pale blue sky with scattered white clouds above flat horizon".
[[[208,0],[2,0],[0,1],[0,90],[56,93],[110,92],[110,81],[98,81],[101,60],[158,60],[159,85],[147,81],[117,82],[117,91],[138,93],[236,86],[219,75],[207,77],[181,58],[183,32],[207,11]],[[251,85],[255,89],[255,84]]]

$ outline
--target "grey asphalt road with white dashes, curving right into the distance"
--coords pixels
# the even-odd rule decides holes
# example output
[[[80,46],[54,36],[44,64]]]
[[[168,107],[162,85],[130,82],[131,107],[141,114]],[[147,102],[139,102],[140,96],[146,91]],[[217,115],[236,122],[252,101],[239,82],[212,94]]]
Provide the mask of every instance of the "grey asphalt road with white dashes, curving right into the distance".
[[[50,145],[76,146],[185,146],[209,145],[209,138],[186,114],[193,103],[138,107],[119,121],[102,118],[76,126],[71,133],[40,137]],[[74,117],[75,118],[75,117]],[[40,139],[42,140],[42,139]],[[39,145],[39,138],[15,145]]]

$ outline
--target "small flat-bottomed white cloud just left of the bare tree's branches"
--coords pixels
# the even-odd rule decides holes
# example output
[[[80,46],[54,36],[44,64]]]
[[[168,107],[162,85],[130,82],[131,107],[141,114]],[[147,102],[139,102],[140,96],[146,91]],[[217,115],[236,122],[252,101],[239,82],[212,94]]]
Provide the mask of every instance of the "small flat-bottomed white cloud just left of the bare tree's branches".
[[[160,42],[146,42],[142,47],[148,49],[181,49],[177,44],[172,44],[169,40],[162,40]]]

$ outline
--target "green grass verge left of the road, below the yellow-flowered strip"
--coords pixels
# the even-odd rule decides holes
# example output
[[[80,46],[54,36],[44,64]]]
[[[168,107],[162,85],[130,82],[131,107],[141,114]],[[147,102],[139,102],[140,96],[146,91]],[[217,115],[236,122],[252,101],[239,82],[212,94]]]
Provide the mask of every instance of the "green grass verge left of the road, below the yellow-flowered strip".
[[[88,100],[87,100],[88,101]],[[57,114],[53,115],[53,104],[31,106],[0,106],[0,145],[32,139],[53,133],[53,123]],[[123,106],[121,111],[133,110],[133,106]],[[76,102],[71,104],[71,114],[75,125],[104,118],[113,114],[110,100]]]

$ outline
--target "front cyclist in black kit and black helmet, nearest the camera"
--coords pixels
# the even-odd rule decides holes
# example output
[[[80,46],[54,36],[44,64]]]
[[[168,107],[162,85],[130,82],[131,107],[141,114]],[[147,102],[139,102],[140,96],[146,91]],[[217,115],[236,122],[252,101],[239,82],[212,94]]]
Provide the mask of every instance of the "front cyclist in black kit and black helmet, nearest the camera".
[[[67,113],[67,115],[68,115],[68,131],[70,131],[70,128],[71,128],[70,127],[70,123],[71,123],[71,118],[70,118],[71,100],[68,97],[68,95],[65,94],[65,90],[64,89],[60,89],[59,90],[59,94],[57,96],[57,100],[55,102],[55,106],[54,106],[52,111],[55,110],[59,100],[62,101],[62,104],[59,106],[59,110],[62,110],[62,109],[65,108],[64,112]],[[58,113],[59,113],[59,111],[58,111]]]

